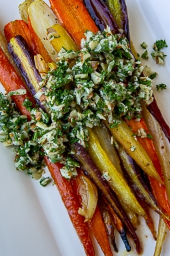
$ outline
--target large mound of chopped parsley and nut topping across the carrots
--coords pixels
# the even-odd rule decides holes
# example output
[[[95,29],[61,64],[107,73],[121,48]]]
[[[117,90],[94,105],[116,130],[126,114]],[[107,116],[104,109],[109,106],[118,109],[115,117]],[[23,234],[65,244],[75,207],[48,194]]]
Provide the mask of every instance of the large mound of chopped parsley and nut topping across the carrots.
[[[25,127],[27,138],[23,140],[20,126],[11,137],[9,131],[3,134],[5,140],[17,144],[17,168],[27,170],[29,166],[30,174],[39,171],[46,155],[51,162],[63,164],[65,178],[77,175],[79,164],[71,157],[74,142],[88,148],[89,128],[103,120],[115,127],[122,117],[141,118],[141,100],[145,104],[153,101],[152,80],[143,76],[141,61],[132,55],[123,35],[113,35],[109,27],[96,34],[86,31],[85,35],[80,51],[61,49],[55,66],[39,84],[35,97],[49,114],[32,108],[26,100],[32,120],[28,125],[25,120],[21,127]]]

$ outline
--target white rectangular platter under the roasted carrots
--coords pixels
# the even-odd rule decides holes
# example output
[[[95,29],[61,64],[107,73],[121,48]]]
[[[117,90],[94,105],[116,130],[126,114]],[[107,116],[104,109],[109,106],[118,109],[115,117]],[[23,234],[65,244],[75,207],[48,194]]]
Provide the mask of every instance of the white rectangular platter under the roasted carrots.
[[[46,1],[49,3],[48,1]],[[18,5],[21,0],[0,1],[0,30],[9,21],[20,19]],[[156,84],[167,84],[167,90],[156,92],[155,97],[163,116],[170,125],[170,15],[168,0],[127,0],[131,39],[141,53],[140,44],[145,41],[151,52],[156,39],[165,39],[169,47],[165,49],[165,66],[160,67],[153,59],[143,61],[159,76]],[[1,88],[2,90],[2,88]],[[170,147],[167,143],[167,148]],[[13,154],[0,144],[0,255],[2,256],[85,256],[83,247],[73,229],[67,211],[63,206],[57,188],[52,184],[43,188],[30,176],[15,170]],[[47,170],[47,176],[48,170]],[[153,213],[157,229],[157,214]],[[153,255],[155,241],[144,221],[137,230],[143,245],[143,256]],[[117,236],[119,253],[117,256],[135,256],[127,253]],[[97,256],[103,253],[95,245]],[[162,256],[169,256],[170,234],[167,232]]]

